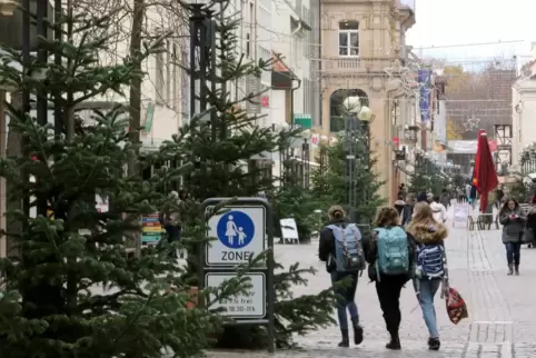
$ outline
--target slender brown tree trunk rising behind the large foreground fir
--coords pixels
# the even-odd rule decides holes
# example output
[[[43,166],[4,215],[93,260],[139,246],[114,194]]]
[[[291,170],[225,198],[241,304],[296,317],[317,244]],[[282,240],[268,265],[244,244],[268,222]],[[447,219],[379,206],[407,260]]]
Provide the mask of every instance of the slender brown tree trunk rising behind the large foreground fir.
[[[135,59],[139,51],[141,50],[141,30],[143,28],[143,9],[145,9],[145,0],[135,0],[133,1],[133,13],[132,13],[132,32],[130,36],[130,58]],[[135,69],[141,71],[141,63],[137,62],[137,67]],[[140,142],[140,133],[139,128],[141,127],[141,78],[132,80],[130,83],[130,108],[129,108],[129,139],[133,145],[138,145]],[[128,161],[128,176],[132,177],[138,171],[138,152],[135,152]],[[140,232],[132,232],[130,240],[133,242],[135,247],[135,255],[137,257],[141,256],[141,233]]]

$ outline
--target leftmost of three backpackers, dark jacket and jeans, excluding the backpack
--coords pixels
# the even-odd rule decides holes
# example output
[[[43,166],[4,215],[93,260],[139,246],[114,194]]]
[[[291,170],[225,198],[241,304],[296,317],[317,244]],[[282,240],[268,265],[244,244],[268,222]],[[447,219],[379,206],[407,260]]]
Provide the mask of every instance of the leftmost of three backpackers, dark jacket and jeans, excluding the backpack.
[[[346,212],[340,206],[332,206],[328,210],[329,222],[327,225],[336,225],[340,228],[346,228],[349,223],[346,218]],[[363,327],[359,325],[359,314],[355,301],[357,290],[357,272],[338,272],[335,267],[335,236],[331,229],[325,228],[320,231],[320,243],[318,247],[318,257],[326,262],[326,270],[331,276],[331,282],[336,284],[344,279],[349,279],[349,285],[338,288],[337,294],[341,299],[337,304],[337,316],[339,319],[340,332],[343,340],[339,347],[349,347],[348,335],[348,317],[346,310],[350,314],[351,325],[354,328],[354,342],[356,345],[363,341]]]

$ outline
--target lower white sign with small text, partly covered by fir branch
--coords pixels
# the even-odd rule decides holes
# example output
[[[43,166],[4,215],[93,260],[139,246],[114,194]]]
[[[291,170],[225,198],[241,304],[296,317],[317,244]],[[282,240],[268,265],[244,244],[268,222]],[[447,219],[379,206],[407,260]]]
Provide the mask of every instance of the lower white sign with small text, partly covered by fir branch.
[[[237,318],[262,318],[266,316],[266,276],[248,274],[251,288],[245,295],[238,295],[225,301],[215,302],[211,309],[224,308],[222,316]],[[225,280],[236,277],[234,274],[211,272],[205,275],[206,287],[218,287]],[[214,300],[214,296],[209,299]]]

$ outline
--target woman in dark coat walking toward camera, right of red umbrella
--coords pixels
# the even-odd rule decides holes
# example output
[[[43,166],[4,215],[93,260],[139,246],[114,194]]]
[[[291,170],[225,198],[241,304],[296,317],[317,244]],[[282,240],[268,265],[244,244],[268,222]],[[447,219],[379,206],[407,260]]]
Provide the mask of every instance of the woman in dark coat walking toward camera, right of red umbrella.
[[[519,259],[522,249],[522,235],[526,221],[525,213],[519,203],[514,199],[506,200],[499,211],[499,222],[503,225],[503,243],[506,248],[508,275],[519,275]]]

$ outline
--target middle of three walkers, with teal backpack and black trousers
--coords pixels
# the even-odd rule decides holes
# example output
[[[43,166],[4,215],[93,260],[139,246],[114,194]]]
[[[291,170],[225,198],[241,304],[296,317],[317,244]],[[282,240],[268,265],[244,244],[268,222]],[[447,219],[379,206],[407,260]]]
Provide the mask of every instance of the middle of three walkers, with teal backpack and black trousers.
[[[398,211],[395,208],[383,208],[376,220],[367,252],[369,266],[369,279],[376,281],[376,292],[379,306],[384,312],[384,320],[389,332],[390,340],[385,346],[387,349],[400,349],[400,291],[410,279],[410,247],[406,232],[399,226]],[[385,250],[388,248],[388,250]],[[394,263],[386,269],[383,258],[388,258]],[[399,259],[398,268],[394,268]]]

